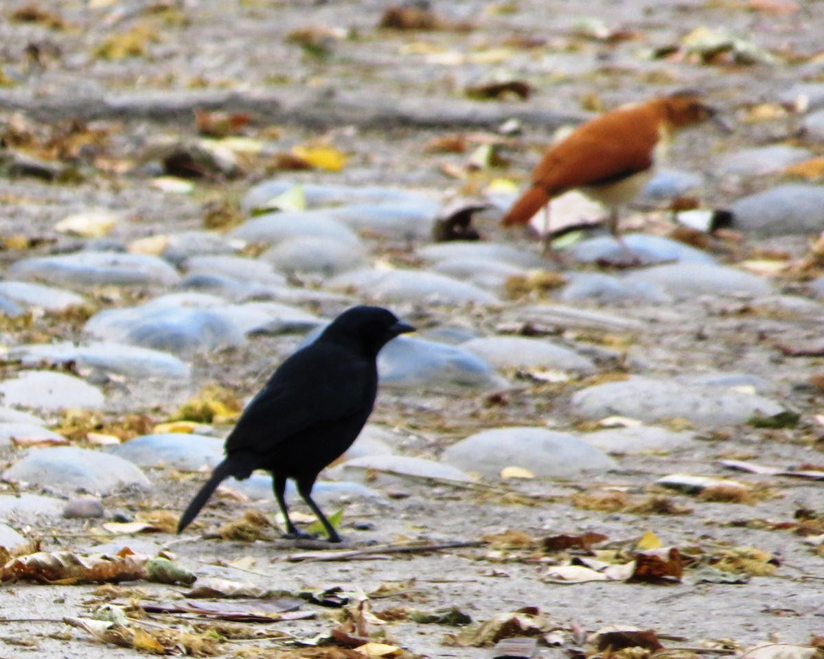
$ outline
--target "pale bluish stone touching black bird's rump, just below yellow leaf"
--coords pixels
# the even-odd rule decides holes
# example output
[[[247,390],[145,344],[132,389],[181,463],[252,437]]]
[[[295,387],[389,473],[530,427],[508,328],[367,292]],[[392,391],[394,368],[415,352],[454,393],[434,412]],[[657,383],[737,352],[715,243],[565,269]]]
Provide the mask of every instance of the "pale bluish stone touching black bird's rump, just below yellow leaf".
[[[174,467],[196,471],[213,469],[223,459],[223,440],[184,432],[164,432],[133,437],[109,452],[138,467]]]

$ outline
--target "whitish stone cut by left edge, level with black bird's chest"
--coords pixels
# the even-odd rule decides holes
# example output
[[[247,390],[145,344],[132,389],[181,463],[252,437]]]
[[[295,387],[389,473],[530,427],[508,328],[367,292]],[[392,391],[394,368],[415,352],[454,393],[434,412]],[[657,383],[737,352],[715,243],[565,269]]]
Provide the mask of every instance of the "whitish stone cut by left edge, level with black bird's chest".
[[[21,371],[0,382],[2,402],[47,412],[60,409],[101,409],[105,397],[101,390],[79,377],[54,371]]]

